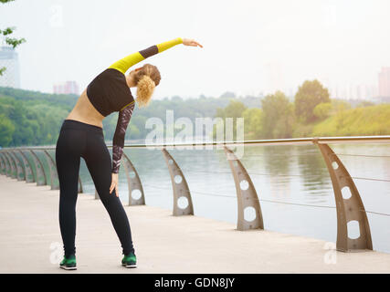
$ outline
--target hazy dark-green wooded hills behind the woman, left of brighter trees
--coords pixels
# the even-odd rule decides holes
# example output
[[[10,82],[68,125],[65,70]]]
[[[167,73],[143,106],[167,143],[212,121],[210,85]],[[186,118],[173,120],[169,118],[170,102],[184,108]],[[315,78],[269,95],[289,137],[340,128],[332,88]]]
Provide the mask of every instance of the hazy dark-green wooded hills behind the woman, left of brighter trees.
[[[200,96],[182,99],[179,96],[154,99],[150,106],[135,106],[126,132],[126,140],[144,139],[149,132],[145,122],[149,118],[165,121],[166,110],[174,110],[174,119],[214,117],[218,107],[226,107],[230,99],[237,99],[248,107],[258,104],[258,97],[236,98],[227,92],[219,98]],[[52,145],[57,142],[62,121],[69,115],[79,96],[48,94],[39,91],[0,87],[0,146]],[[118,112],[103,120],[106,141],[111,141],[116,129]]]

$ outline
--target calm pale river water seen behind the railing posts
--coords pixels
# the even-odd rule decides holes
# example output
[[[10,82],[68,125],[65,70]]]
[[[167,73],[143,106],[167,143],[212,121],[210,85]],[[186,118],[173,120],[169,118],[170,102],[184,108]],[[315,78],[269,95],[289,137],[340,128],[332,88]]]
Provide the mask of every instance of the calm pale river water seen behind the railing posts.
[[[390,181],[390,145],[335,144],[331,147],[340,154],[361,194],[374,250],[390,253],[390,182],[384,182]],[[125,152],[140,175],[146,204],[173,210],[172,183],[162,152],[149,149]],[[184,172],[195,215],[236,224],[236,188],[224,151],[169,152]],[[336,242],[332,182],[316,146],[246,146],[244,153],[241,162],[258,193],[265,229]],[[80,177],[84,192],[94,193],[83,160]],[[128,203],[123,169],[119,190],[121,201]]]

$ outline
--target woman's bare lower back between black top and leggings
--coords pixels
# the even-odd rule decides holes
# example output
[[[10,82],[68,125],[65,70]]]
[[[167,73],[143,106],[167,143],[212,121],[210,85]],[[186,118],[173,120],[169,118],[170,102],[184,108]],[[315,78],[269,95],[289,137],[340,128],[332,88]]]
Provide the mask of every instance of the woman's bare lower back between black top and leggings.
[[[90,99],[87,96],[87,90],[84,90],[75,107],[69,112],[69,115],[65,120],[79,120],[103,128],[102,120],[104,118],[105,117],[90,103]]]

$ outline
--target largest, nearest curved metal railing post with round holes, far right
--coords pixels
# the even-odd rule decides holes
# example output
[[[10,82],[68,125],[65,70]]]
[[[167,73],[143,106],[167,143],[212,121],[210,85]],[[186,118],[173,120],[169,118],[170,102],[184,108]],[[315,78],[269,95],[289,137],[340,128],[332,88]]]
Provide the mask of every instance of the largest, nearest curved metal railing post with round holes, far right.
[[[317,139],[313,143],[320,148],[331,175],[337,210],[337,250],[372,250],[373,243],[364,204],[351,175],[328,144],[319,143]],[[353,222],[359,226],[360,234],[356,238],[348,235],[348,227],[352,227]]]

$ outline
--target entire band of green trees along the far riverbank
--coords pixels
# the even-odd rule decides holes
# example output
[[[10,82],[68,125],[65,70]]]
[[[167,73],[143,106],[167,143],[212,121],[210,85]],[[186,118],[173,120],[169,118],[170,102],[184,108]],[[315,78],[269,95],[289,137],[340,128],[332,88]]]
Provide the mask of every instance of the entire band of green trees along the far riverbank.
[[[55,144],[62,121],[78,99],[77,95],[0,88],[0,146]],[[227,91],[219,98],[174,96],[155,99],[142,109],[136,105],[126,140],[144,139],[150,131],[145,129],[146,120],[165,121],[166,110],[174,110],[174,119],[187,117],[194,123],[202,117],[244,118],[246,140],[385,135],[390,131],[390,104],[362,101],[353,108],[345,100],[330,99],[328,89],[318,80],[307,80],[292,101],[281,91],[266,97],[237,97]],[[111,141],[117,120],[118,112],[103,120],[106,141]]]

